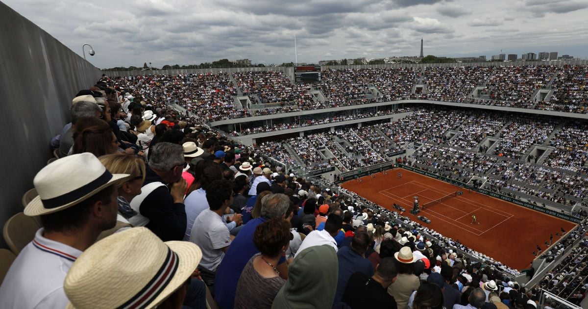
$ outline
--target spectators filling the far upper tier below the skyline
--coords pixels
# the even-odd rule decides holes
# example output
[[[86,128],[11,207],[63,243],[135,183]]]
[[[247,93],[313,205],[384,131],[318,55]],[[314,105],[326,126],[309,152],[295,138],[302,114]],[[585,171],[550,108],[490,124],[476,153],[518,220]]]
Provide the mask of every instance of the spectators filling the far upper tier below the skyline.
[[[526,65],[499,67],[426,67],[322,69],[315,84],[293,84],[283,71],[225,72],[155,75],[115,78],[119,87],[138,90],[149,103],[166,101],[189,109],[201,121],[279,114],[309,109],[342,107],[399,99],[497,105],[585,113],[587,65]],[[415,85],[426,85],[423,92]],[[377,91],[372,91],[370,87]],[[476,87],[486,87],[472,95]],[[249,109],[235,104],[238,90],[253,104]],[[325,99],[314,98],[317,89]],[[532,98],[537,89],[553,90],[550,101]],[[415,92],[415,93],[413,93]],[[277,105],[276,105],[277,104]]]

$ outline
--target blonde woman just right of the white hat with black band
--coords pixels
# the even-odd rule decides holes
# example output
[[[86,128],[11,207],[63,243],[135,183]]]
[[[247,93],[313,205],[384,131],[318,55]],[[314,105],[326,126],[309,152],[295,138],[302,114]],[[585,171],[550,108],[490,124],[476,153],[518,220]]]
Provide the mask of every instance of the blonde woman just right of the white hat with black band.
[[[111,173],[129,174],[133,177],[116,184],[118,188],[118,215],[116,220],[131,224],[133,227],[142,227],[149,223],[149,219],[138,214],[131,208],[129,202],[141,194],[141,187],[145,181],[145,161],[135,154],[109,154],[98,158],[106,170]]]

